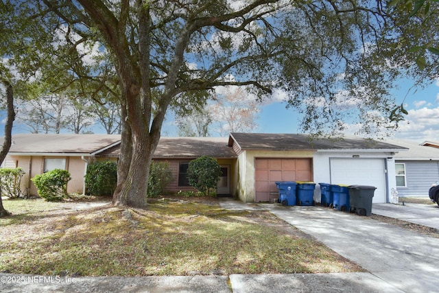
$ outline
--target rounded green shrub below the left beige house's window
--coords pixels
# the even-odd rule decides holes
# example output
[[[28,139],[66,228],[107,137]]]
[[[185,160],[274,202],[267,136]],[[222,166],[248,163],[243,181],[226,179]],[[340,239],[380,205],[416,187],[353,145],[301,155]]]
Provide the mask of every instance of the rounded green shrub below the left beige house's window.
[[[31,180],[38,190],[38,195],[48,202],[60,201],[69,196],[67,183],[71,177],[67,170],[54,169],[44,174],[35,175]]]

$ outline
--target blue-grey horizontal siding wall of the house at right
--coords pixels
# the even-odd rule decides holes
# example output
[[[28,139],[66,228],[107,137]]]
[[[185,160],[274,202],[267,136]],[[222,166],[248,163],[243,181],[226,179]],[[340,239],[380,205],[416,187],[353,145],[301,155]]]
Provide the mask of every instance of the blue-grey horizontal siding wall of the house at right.
[[[400,161],[405,163],[406,187],[398,187],[399,197],[428,196],[431,184],[439,181],[438,161]]]

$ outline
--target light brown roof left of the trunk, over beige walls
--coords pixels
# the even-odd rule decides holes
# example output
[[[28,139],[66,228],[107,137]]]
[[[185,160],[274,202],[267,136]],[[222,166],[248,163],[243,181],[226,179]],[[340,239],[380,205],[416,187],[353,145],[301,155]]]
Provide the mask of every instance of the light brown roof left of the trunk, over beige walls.
[[[3,137],[0,139],[3,143]],[[13,134],[10,153],[92,154],[120,141],[117,134]]]

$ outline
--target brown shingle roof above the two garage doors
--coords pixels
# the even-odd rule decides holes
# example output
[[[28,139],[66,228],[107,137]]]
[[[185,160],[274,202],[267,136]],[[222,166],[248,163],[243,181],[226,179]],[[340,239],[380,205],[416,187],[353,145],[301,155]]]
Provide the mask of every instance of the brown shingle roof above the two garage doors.
[[[236,141],[241,150],[386,150],[405,148],[359,137],[344,139],[311,138],[308,134],[231,133],[229,145]]]

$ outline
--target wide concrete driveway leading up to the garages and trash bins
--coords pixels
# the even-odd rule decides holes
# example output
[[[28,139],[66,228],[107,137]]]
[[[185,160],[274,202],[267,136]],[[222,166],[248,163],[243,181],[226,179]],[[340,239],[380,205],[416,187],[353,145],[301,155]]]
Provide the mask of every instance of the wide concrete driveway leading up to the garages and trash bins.
[[[439,290],[438,238],[324,207],[259,206],[403,292]]]

